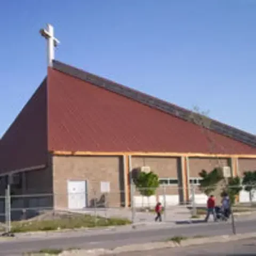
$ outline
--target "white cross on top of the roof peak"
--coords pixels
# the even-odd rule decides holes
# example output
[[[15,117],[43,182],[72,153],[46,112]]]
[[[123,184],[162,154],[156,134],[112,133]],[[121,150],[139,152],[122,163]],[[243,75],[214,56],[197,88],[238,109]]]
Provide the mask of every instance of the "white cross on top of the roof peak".
[[[51,24],[47,24],[47,30],[40,29],[39,33],[47,39],[47,62],[48,66],[52,67],[52,60],[54,60],[54,47],[60,44],[60,42],[54,37],[53,26]]]

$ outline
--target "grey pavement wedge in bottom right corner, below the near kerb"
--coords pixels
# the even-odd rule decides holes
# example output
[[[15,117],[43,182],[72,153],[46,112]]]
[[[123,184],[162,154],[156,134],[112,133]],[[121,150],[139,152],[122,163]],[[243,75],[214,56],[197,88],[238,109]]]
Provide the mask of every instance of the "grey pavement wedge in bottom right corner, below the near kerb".
[[[256,254],[256,239],[235,242],[208,244],[201,246],[178,247],[144,252],[121,253],[118,256],[244,256]],[[110,255],[116,256],[116,255]]]

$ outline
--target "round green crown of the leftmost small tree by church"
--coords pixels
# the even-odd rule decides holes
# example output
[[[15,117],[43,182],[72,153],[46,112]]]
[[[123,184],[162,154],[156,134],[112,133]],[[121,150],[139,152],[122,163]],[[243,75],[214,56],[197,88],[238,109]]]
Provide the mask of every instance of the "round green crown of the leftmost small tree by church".
[[[153,196],[159,187],[158,175],[154,172],[140,172],[134,184],[142,196]]]

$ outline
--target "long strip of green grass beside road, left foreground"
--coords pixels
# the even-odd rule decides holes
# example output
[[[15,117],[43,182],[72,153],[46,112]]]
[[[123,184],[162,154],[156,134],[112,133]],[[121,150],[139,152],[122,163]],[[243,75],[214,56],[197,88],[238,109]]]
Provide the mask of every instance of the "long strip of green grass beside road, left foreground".
[[[96,217],[96,219],[94,219],[94,216],[92,215],[81,214],[55,220],[12,222],[11,232],[21,233],[29,231],[51,231],[59,229],[121,226],[130,223],[131,221],[128,219],[103,217]]]

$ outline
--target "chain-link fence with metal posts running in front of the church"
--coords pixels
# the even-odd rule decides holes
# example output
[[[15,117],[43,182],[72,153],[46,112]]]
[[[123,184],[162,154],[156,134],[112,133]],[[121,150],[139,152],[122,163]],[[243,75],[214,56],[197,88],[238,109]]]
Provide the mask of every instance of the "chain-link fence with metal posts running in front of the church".
[[[208,194],[215,196],[218,205],[221,205],[222,191],[240,190],[235,196],[234,213],[250,213],[256,210],[255,186],[252,185],[251,188],[215,186],[206,189]],[[113,191],[102,194],[100,191],[92,190],[90,194],[10,195],[10,188],[7,188],[5,195],[0,196],[0,227],[5,232],[10,232],[12,221],[50,220],[61,214],[67,216],[67,212],[88,215],[92,220],[123,218],[133,223],[151,222],[154,221],[155,206],[158,202],[163,207],[164,221],[203,218],[206,214],[208,196],[197,185],[160,186],[153,190],[131,185],[129,192]]]

